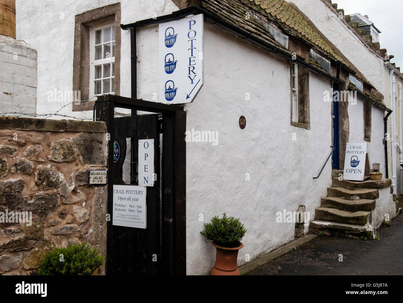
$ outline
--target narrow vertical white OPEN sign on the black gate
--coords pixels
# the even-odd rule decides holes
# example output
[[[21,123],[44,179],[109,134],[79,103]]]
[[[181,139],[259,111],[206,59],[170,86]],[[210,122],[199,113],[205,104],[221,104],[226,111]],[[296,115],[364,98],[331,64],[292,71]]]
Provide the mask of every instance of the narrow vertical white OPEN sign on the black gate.
[[[154,186],[154,139],[139,140],[139,186]]]

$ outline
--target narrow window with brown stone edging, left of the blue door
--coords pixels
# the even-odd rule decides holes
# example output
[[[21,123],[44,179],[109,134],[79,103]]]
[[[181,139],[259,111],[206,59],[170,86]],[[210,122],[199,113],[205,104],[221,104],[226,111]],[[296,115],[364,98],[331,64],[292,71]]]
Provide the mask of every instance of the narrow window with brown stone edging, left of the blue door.
[[[291,125],[310,129],[309,70],[291,63]]]

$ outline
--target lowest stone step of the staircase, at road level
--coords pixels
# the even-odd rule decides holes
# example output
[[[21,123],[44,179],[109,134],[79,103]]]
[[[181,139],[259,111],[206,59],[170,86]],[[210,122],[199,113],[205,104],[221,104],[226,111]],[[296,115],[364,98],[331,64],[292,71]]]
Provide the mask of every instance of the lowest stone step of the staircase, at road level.
[[[320,220],[311,220],[308,234],[319,234],[325,236],[345,236],[354,238],[376,239],[376,230],[370,225],[352,225]]]

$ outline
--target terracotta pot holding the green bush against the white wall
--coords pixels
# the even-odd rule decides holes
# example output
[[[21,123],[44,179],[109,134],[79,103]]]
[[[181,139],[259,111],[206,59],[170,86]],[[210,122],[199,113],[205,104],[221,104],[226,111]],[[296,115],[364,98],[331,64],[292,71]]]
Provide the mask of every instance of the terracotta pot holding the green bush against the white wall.
[[[240,276],[237,258],[238,251],[243,247],[242,242],[238,247],[223,247],[213,242],[216,247],[216,263],[210,271],[211,276]]]

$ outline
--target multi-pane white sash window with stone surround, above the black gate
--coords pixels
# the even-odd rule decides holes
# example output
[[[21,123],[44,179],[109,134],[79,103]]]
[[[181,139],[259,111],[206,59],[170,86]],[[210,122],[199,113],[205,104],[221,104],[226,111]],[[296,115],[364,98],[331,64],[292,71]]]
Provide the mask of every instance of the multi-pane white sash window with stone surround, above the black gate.
[[[81,102],[73,111],[92,111],[98,93],[120,94],[120,3],[75,15],[74,23],[73,90]]]

